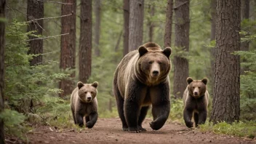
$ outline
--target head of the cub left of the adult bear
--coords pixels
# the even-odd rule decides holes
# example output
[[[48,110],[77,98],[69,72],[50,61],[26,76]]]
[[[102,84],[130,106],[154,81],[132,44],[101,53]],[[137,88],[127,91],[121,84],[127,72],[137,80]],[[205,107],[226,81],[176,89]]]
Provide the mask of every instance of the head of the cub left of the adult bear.
[[[79,98],[84,103],[90,103],[97,95],[97,81],[92,84],[83,84],[81,81],[77,83],[79,87]]]

